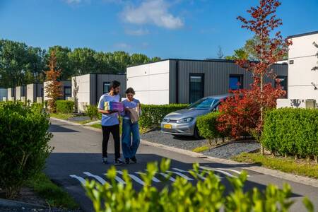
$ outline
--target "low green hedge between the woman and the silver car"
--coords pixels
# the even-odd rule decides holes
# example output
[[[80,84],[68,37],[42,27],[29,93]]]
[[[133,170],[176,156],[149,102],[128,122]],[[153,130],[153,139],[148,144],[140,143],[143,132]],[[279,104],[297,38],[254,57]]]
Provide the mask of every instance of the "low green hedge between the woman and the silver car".
[[[163,117],[170,112],[187,107],[186,104],[170,105],[141,105],[142,114],[139,118],[139,126],[143,129],[151,129],[160,126]]]

